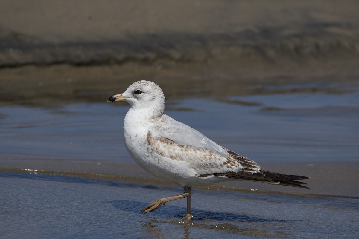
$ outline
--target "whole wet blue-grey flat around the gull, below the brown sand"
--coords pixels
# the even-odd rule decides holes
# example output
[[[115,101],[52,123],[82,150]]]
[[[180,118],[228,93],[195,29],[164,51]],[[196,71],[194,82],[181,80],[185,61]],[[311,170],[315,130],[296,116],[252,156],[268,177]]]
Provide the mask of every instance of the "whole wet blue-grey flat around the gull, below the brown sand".
[[[307,85],[267,90],[307,89]],[[140,210],[182,188],[137,166],[122,139],[129,105],[0,107],[1,238],[356,238],[359,92],[168,99],[165,113],[310,189],[233,181]],[[119,91],[120,92],[120,91]]]

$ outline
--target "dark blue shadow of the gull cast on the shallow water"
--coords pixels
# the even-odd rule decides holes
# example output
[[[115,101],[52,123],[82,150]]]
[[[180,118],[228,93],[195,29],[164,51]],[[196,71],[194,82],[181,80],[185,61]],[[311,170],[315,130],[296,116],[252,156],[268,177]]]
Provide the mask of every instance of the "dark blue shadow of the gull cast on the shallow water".
[[[116,200],[109,201],[113,207],[119,210],[135,212],[142,214],[141,209],[146,207],[148,204],[139,201],[130,200]],[[259,218],[255,216],[248,216],[243,214],[235,214],[230,212],[215,212],[208,210],[192,209],[191,210],[194,219],[196,220],[215,220],[215,221],[241,221],[241,222],[290,222],[292,220],[276,220]],[[165,218],[178,218],[182,219],[186,215],[186,208],[180,206],[165,205],[150,213],[154,217],[165,217]]]

